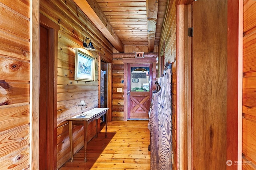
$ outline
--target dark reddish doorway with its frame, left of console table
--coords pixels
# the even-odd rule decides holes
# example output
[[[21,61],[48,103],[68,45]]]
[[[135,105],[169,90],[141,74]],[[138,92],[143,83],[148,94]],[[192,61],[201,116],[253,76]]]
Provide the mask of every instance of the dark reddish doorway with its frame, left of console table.
[[[40,14],[39,170],[57,167],[57,39],[60,26]]]

